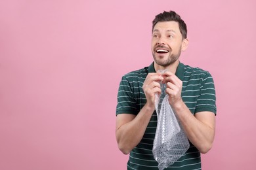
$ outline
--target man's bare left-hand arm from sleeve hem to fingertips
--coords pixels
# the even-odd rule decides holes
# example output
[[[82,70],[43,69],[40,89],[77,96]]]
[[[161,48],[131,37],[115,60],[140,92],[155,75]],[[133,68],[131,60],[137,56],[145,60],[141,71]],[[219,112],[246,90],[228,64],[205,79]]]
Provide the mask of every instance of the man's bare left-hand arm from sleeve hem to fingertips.
[[[161,93],[159,80],[162,76],[158,73],[149,73],[142,86],[146,95],[146,105],[142,107],[137,116],[133,114],[118,114],[116,117],[116,140],[119,150],[129,154],[141,141],[148,122],[155,110],[155,93]]]

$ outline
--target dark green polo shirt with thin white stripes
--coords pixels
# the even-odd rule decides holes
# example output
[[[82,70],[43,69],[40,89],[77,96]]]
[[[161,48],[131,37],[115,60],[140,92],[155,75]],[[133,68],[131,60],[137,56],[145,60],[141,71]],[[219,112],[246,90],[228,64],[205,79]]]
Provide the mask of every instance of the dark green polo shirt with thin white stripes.
[[[116,114],[137,115],[146,104],[142,85],[148,73],[156,73],[154,62],[149,67],[127,73],[121,79],[117,95]],[[192,114],[210,111],[216,114],[215,86],[209,72],[200,68],[179,63],[175,74],[182,80],[181,97]],[[158,117],[156,110],[140,143],[130,152],[127,169],[158,169],[158,162],[152,153]],[[190,143],[187,152],[167,169],[201,169],[201,156],[198,149]]]

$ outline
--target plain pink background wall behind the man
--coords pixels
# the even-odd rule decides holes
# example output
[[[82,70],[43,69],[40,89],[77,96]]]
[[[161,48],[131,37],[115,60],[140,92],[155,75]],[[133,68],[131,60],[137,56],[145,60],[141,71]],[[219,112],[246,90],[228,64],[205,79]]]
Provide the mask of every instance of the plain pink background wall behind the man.
[[[125,169],[121,76],[150,65],[154,16],[188,26],[181,61],[213,75],[215,143],[203,169],[255,169],[255,1],[1,1],[0,169]]]

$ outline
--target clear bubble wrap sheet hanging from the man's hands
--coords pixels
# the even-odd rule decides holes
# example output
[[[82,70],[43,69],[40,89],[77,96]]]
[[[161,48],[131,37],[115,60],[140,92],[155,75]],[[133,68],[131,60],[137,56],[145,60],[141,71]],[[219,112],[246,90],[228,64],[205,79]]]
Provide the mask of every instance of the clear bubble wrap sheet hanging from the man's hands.
[[[165,169],[179,160],[188,150],[188,138],[169,105],[169,95],[165,94],[166,85],[161,84],[161,94],[156,94],[156,113],[158,126],[153,144],[153,155],[158,161],[158,168]]]

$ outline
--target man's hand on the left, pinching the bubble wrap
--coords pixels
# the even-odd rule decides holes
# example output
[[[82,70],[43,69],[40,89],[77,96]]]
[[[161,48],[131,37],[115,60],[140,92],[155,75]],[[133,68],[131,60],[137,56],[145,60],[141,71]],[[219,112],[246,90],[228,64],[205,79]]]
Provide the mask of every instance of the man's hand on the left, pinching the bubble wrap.
[[[161,80],[163,80],[163,76],[160,73],[148,73],[148,76],[146,76],[142,88],[146,95],[146,105],[149,107],[155,107],[155,94],[161,93]]]

